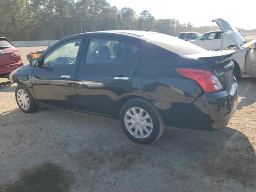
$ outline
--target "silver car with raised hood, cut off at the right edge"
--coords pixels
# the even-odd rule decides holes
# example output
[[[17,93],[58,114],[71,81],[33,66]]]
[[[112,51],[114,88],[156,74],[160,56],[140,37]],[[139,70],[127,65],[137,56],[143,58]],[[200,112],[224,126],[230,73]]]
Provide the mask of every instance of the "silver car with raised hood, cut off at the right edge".
[[[236,28],[230,26],[225,20],[218,18],[212,20],[212,22],[216,22],[220,30],[223,33],[229,34],[236,43],[234,48],[229,48],[236,50],[232,56],[234,62],[234,76],[236,78],[256,77],[256,39],[246,43],[242,34],[240,34]],[[219,51],[223,50],[225,49]]]

